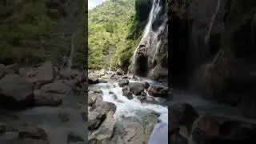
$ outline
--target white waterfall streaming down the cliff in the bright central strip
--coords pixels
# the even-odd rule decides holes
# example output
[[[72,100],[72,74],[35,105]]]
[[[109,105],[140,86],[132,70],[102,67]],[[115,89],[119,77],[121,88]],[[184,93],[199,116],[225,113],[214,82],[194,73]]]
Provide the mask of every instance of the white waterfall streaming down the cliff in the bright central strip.
[[[162,34],[167,26],[167,13],[163,12],[163,6],[161,6],[162,0],[154,0],[150,15],[148,18],[148,22],[146,23],[146,27],[143,30],[142,38],[134,51],[132,57],[132,69],[134,73],[137,73],[140,70],[136,70],[140,68],[138,66],[138,51],[144,50],[146,51],[146,61],[147,63],[142,62],[141,65],[146,66],[146,73],[148,74],[150,70],[154,69],[154,61],[157,59],[160,46],[162,45]],[[156,26],[157,25],[157,26]],[[141,71],[140,71],[141,72]]]

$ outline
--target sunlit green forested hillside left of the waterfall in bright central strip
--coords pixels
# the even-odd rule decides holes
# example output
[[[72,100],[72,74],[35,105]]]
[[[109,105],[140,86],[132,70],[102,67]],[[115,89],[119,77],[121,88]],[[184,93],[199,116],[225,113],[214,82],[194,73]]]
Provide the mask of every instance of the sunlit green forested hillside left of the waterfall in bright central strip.
[[[110,0],[90,10],[89,69],[109,68],[111,62],[111,70],[127,70],[150,8],[150,0]]]

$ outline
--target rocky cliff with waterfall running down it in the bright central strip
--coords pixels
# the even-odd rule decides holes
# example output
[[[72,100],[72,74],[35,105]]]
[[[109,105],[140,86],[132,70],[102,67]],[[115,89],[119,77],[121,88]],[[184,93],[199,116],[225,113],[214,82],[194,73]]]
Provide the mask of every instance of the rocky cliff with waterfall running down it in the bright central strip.
[[[141,42],[134,53],[134,73],[157,80],[166,79],[168,1],[155,0]]]

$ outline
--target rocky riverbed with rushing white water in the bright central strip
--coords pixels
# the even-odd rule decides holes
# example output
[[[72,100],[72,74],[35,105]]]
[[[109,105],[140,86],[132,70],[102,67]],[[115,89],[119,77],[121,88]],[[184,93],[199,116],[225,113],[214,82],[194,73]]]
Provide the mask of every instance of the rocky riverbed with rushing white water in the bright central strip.
[[[168,121],[162,83],[122,70],[90,71],[88,82],[89,143],[147,143],[155,124]]]

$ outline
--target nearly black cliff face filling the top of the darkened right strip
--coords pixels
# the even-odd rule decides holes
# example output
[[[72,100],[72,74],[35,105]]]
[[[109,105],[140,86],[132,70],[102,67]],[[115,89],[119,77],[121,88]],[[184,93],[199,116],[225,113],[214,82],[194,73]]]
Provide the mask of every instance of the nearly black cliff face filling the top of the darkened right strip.
[[[255,117],[256,2],[174,0],[170,7],[170,84],[193,84]]]

